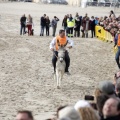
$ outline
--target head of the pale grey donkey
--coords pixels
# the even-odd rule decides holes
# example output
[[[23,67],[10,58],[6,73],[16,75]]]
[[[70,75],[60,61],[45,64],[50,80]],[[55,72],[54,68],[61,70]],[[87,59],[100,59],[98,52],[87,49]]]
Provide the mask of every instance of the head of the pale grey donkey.
[[[63,62],[64,59],[65,59],[65,47],[64,46],[59,46],[59,49],[58,49],[58,59],[60,62]]]

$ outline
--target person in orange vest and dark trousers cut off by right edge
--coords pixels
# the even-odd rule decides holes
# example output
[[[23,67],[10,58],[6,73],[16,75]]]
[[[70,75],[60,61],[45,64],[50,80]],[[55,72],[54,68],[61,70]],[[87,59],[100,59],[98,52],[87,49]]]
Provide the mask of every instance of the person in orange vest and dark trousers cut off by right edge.
[[[116,55],[115,55],[115,60],[116,60],[116,63],[118,65],[118,68],[120,69],[120,63],[119,63],[119,56],[120,56],[120,29],[118,30],[117,34],[115,35],[115,38],[114,38],[114,42],[115,42],[115,46],[118,47],[118,51],[116,52]]]

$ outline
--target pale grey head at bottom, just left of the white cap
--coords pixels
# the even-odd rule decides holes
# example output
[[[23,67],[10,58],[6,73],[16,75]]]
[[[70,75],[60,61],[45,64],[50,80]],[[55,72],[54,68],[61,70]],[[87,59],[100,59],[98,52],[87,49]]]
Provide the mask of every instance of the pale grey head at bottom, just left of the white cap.
[[[59,111],[60,120],[80,120],[79,113],[73,106],[67,106]]]

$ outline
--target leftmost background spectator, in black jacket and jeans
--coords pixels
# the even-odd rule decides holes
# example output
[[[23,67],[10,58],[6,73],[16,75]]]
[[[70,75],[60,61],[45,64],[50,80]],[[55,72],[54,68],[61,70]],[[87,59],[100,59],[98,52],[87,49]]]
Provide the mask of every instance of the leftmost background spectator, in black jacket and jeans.
[[[25,17],[25,14],[20,18],[20,35],[24,35],[26,32],[25,32],[25,27],[26,27],[26,17]]]

